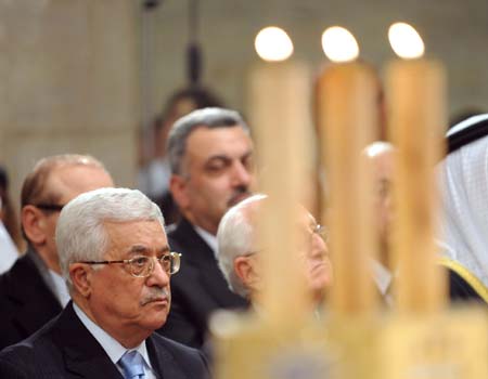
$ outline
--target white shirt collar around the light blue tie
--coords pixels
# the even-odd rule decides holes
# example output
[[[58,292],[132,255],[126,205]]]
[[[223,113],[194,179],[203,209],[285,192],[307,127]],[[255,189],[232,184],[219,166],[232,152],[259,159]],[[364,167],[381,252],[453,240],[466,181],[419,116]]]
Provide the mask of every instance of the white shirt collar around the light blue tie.
[[[145,345],[145,340],[137,347],[136,349],[126,349],[124,348],[115,338],[108,335],[105,330],[103,330],[100,326],[93,323],[90,317],[78,306],[76,303],[73,303],[73,308],[75,310],[76,315],[79,317],[81,323],[88,329],[88,331],[93,336],[93,338],[100,343],[105,353],[108,355],[114,365],[117,365],[118,361],[127,351],[137,350],[142,357],[144,358],[144,363],[150,369],[151,363],[149,360],[147,348]],[[118,366],[117,366],[118,367]]]

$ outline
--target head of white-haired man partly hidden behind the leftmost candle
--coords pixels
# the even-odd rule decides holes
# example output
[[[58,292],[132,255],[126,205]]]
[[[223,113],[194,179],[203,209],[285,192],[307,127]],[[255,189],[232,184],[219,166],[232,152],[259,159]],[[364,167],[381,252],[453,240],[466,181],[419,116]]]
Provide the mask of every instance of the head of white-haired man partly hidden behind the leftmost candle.
[[[258,244],[259,211],[267,199],[254,195],[232,207],[222,218],[217,233],[219,267],[232,291],[246,298],[253,306],[261,306],[262,262],[260,256],[266,249]],[[323,227],[303,209],[298,232],[304,236],[297,247],[297,262],[304,265],[304,273],[312,310],[323,302],[325,290],[333,282],[329,249],[323,238]],[[297,267],[300,267],[298,264]]]

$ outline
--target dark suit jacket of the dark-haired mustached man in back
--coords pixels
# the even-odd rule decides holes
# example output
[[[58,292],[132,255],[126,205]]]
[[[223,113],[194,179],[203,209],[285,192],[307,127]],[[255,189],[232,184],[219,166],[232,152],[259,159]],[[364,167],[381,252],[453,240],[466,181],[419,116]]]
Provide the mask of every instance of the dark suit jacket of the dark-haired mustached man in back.
[[[201,348],[210,313],[218,309],[245,308],[247,302],[231,292],[214,251],[182,219],[168,230],[171,250],[182,253],[181,269],[171,277],[171,311],[158,331],[181,343]]]

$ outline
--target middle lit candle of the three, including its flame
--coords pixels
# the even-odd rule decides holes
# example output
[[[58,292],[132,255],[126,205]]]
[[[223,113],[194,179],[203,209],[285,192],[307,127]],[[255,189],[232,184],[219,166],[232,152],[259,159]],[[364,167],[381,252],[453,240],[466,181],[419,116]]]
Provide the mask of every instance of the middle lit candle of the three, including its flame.
[[[326,168],[334,267],[332,309],[339,314],[371,311],[374,291],[369,254],[375,251],[371,183],[362,148],[377,128],[377,79],[371,67],[356,62],[359,48],[341,27],[324,31],[322,44],[333,65],[318,83],[318,121],[322,135],[322,162]]]

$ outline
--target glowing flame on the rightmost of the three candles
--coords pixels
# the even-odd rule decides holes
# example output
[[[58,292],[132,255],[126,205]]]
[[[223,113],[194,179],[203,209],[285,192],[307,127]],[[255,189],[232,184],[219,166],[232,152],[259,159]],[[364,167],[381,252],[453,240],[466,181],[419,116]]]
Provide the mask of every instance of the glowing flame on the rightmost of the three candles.
[[[409,24],[393,24],[388,29],[388,39],[391,49],[402,58],[413,60],[424,54],[424,42],[419,32]]]

